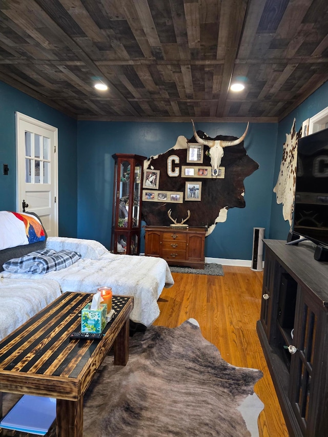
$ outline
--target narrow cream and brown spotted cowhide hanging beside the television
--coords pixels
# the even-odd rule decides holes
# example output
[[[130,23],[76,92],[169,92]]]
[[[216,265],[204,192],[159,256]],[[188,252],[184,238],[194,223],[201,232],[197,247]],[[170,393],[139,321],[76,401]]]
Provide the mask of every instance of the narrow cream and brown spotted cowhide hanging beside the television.
[[[302,128],[296,133],[296,119],[294,118],[290,134],[286,134],[286,142],[283,144],[280,172],[273,192],[277,195],[277,203],[282,203],[282,215],[292,226],[294,211],[297,144],[302,135]]]

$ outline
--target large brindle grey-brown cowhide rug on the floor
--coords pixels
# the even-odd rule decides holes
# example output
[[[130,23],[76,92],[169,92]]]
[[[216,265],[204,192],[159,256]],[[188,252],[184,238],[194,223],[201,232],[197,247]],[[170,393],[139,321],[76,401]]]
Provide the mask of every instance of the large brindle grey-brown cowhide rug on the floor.
[[[222,360],[191,321],[137,332],[126,367],[105,359],[85,396],[84,437],[258,435],[262,372]]]

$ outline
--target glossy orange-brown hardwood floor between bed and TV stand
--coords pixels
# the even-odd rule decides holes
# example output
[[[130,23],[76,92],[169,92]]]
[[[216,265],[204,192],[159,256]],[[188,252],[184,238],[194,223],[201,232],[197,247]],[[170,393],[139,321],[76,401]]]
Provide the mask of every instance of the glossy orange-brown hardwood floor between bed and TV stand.
[[[228,363],[262,370],[255,392],[264,404],[258,419],[260,437],[288,437],[276,392],[256,333],[260,318],[263,272],[223,266],[224,276],[173,273],[175,284],[158,300],[154,325],[179,326],[198,321],[204,338]]]

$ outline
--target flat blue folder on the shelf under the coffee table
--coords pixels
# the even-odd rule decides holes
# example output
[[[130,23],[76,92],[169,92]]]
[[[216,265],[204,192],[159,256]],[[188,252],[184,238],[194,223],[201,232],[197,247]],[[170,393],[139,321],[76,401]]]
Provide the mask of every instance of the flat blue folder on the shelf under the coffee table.
[[[56,399],[25,394],[0,422],[0,427],[45,435],[56,419]]]

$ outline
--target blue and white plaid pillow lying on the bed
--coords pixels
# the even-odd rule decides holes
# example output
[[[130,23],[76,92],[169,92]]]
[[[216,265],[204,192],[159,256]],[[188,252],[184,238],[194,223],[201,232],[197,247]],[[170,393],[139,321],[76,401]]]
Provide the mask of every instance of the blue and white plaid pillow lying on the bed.
[[[55,252],[45,248],[20,258],[13,258],[5,262],[3,268],[10,273],[40,274],[69,267],[80,257],[78,252],[66,251],[65,249]]]

